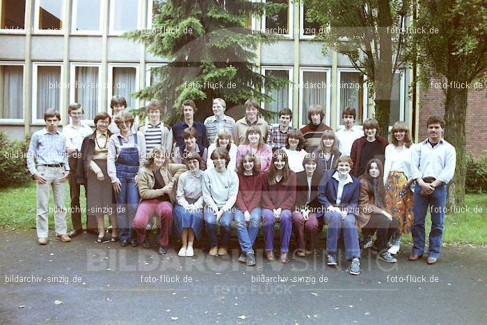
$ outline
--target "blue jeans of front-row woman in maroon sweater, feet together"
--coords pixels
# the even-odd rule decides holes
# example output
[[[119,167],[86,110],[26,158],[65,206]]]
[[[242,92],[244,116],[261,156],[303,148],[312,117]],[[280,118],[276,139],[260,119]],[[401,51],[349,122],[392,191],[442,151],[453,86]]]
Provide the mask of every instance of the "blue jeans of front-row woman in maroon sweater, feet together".
[[[253,244],[257,234],[259,233],[260,219],[262,215],[262,209],[257,206],[250,211],[250,222],[245,221],[244,213],[237,209],[235,211],[235,226],[237,227],[237,235],[239,236],[240,248],[245,253],[254,253]]]

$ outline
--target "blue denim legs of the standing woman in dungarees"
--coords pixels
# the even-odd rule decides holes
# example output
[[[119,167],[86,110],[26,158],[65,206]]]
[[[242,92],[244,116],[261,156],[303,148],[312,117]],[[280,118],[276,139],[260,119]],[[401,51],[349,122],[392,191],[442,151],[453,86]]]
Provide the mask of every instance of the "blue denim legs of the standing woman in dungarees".
[[[132,222],[134,222],[140,197],[138,196],[134,178],[118,178],[118,180],[121,186],[120,192],[115,193],[115,201],[117,202],[120,240],[135,240]]]

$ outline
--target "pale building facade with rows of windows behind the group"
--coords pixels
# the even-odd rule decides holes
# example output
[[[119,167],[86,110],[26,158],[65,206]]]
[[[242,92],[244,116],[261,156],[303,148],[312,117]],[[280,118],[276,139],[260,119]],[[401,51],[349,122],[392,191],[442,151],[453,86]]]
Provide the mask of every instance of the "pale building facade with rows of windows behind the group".
[[[333,129],[340,126],[346,107],[356,108],[357,124],[374,116],[364,77],[346,56],[331,49],[324,53],[323,43],[310,41],[318,27],[305,22],[302,3],[280,1],[289,3],[287,10],[254,18],[251,24],[284,36],[257,49],[257,65],[262,74],[292,83],[265,89],[275,101],[262,103],[262,108],[292,108],[294,126],[302,126],[308,123],[308,107],[319,103]],[[0,0],[0,126],[13,138],[23,138],[44,125],[48,107],[60,110],[67,124],[67,106],[74,101],[83,105],[90,121],[97,112],[110,113],[114,94],[124,95],[131,108],[143,106],[129,94],[157,82],[150,69],[167,60],[120,35],[151,28],[153,8],[152,0]],[[399,69],[394,77],[390,125],[401,120],[419,126],[417,138],[422,108],[418,100],[413,109],[408,92],[412,78],[410,69]],[[418,95],[429,101],[427,114],[438,110],[431,109],[428,96],[436,94]]]

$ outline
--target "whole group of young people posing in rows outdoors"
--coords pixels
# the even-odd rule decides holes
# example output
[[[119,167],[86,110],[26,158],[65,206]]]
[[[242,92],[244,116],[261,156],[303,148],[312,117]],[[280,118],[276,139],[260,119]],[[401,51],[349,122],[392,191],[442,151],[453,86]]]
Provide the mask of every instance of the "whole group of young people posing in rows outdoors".
[[[391,143],[380,135],[376,119],[355,125],[356,111],[346,108],[343,127],[324,124],[321,106],[308,109],[310,123],[292,128],[292,111],[283,108],[280,123],[259,117],[257,101],[244,103],[237,122],[225,115],[223,99],[213,101],[213,116],[194,120],[191,100],[182,104],[182,122],[161,122],[159,101],[147,106],[148,122],[136,125],[125,98],[111,99],[112,115],[98,113],[95,131],[82,122],[83,108],[73,103],[71,117],[58,131],[58,111],[45,112],[46,127],[33,134],[27,155],[37,181],[38,244],[47,244],[49,188],[53,188],[57,239],[83,233],[80,185],[86,190],[88,232],[97,242],[121,247],[152,246],[153,217],[159,229],[159,253],[170,235],[181,239],[179,256],[193,256],[193,243],[206,233],[209,256],[225,256],[232,222],[241,253],[239,261],[255,265],[255,239],[260,231],[265,257],[275,260],[274,230],[280,224],[281,263],[289,262],[289,242],[296,236],[297,256],[313,253],[324,225],[327,264],[337,265],[340,236],[350,273],[360,273],[360,244],[378,259],[397,262],[403,233],[413,233],[409,260],[422,258],[425,216],[431,208],[428,264],[440,254],[446,185],[452,179],[456,153],[442,138],[445,122],[431,116],[429,136],[413,144],[404,122],[392,126]],[[65,181],[70,183],[72,231],[67,231]],[[111,232],[104,216],[109,215]],[[218,226],[220,238],[218,238]],[[111,233],[111,236],[108,234]],[[374,240],[375,236],[375,240]]]

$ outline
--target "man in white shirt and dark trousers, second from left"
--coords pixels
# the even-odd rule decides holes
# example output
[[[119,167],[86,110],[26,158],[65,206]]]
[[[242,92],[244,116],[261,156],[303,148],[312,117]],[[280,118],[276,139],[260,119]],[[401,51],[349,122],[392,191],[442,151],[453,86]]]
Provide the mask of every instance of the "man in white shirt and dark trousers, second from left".
[[[68,178],[70,183],[71,196],[71,222],[73,229],[67,233],[70,238],[83,233],[83,226],[81,225],[81,207],[79,205],[79,184],[77,183],[77,168],[81,158],[81,143],[83,139],[93,133],[88,124],[83,123],[83,108],[81,104],[72,103],[67,108],[67,115],[71,117],[71,123],[63,128],[63,135],[66,137],[66,152],[68,155],[68,163],[70,165],[71,173]],[[86,185],[85,185],[86,192]],[[95,231],[97,228],[96,220],[93,216],[86,216],[86,230]]]

